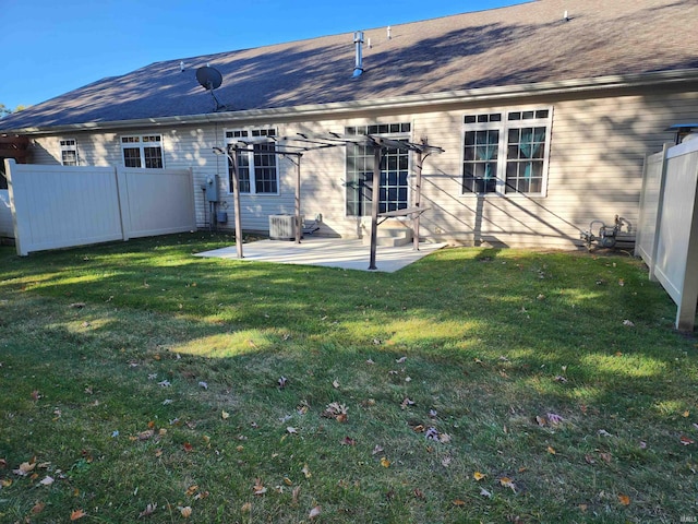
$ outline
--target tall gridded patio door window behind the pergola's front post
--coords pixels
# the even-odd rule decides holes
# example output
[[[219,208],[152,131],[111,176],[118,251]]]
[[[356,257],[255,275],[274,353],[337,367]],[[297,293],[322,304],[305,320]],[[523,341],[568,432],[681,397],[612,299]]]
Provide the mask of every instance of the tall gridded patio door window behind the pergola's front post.
[[[396,140],[409,140],[409,123],[387,123],[346,128],[348,135],[381,134]],[[373,148],[363,144],[347,144],[347,216],[369,216],[373,209]],[[408,195],[409,152],[389,147],[381,158],[378,213],[404,210]]]

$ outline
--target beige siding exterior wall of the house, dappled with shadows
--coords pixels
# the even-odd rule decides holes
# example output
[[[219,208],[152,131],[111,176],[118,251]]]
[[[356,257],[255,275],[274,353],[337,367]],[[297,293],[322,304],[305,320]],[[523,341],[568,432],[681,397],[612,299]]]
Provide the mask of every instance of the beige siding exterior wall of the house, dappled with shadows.
[[[684,88],[684,91],[686,91]],[[464,194],[462,118],[466,114],[503,109],[553,108],[547,184],[544,196],[521,194]],[[298,132],[315,135],[344,133],[347,126],[411,123],[411,140],[422,136],[445,152],[424,162],[421,233],[429,240],[461,245],[521,247],[566,247],[581,245],[580,231],[591,221],[613,224],[619,215],[634,229],[638,223],[642,162],[646,154],[672,142],[669,126],[698,119],[698,88],[684,93],[655,91],[652,94],[617,92],[613,96],[561,95],[555,98],[507,99],[500,104],[436,107],[411,114],[370,114],[361,118],[325,119],[314,122],[265,122],[279,135]],[[221,203],[232,229],[233,201],[228,187],[227,162],[212,147],[224,146],[225,129],[243,128],[245,122],[176,129],[129,129],[119,133],[46,136],[34,140],[35,163],[57,163],[60,138],[75,138],[81,163],[122,165],[119,135],[160,133],[165,167],[191,167],[198,227],[207,227],[208,204],[200,189],[206,178],[219,176]],[[260,127],[257,122],[250,127]],[[268,215],[293,213],[296,166],[278,157],[278,195],[241,198],[242,224],[249,231],[268,230]],[[301,159],[301,202],[306,217],[323,215],[318,234],[362,236],[368,218],[347,217],[345,207],[346,152],[332,147],[306,152]],[[412,182],[413,183],[413,182]],[[413,199],[413,194],[411,195]],[[407,221],[405,221],[407,222]],[[409,224],[409,223],[408,223]]]

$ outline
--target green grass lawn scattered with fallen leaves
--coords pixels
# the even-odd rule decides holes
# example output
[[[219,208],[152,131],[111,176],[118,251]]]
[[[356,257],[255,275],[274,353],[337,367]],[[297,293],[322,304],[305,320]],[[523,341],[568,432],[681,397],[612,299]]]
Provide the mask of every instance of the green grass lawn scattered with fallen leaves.
[[[696,342],[638,260],[191,255],[230,243],[0,249],[0,522],[698,516]]]

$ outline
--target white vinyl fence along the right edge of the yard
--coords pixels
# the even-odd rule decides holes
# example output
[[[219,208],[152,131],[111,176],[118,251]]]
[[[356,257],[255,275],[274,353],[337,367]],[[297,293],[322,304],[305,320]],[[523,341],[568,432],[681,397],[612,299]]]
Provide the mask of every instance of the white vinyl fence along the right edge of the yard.
[[[698,302],[698,140],[647,158],[635,254],[678,307],[676,327],[693,331]]]

